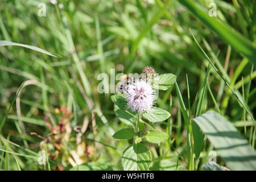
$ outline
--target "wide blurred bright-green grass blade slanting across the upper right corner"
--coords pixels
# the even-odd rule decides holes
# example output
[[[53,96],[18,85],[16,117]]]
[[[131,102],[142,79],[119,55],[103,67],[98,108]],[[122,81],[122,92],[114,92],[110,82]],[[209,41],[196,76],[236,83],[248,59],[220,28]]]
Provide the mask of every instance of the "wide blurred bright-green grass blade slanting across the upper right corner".
[[[206,26],[214,31],[226,43],[230,44],[238,52],[247,57],[254,65],[256,65],[256,48],[245,36],[234,30],[228,24],[221,22],[214,16],[209,16],[207,11],[203,10],[195,1],[179,0],[181,5],[187,7],[191,13],[199,18]]]

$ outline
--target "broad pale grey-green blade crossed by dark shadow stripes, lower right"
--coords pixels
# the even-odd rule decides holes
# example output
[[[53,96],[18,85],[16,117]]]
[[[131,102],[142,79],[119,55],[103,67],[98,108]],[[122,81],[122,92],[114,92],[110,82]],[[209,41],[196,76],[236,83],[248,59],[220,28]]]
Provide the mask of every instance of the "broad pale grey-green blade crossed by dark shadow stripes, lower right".
[[[256,170],[256,153],[227,119],[208,111],[193,119],[232,170]]]

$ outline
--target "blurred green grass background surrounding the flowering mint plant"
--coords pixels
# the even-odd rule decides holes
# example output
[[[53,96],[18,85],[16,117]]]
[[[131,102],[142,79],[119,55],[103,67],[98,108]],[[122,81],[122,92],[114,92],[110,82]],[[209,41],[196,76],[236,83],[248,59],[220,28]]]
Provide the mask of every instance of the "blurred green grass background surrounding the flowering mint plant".
[[[42,2],[46,3],[46,16],[38,15],[38,5]],[[254,42],[255,1],[197,1],[207,11],[210,2],[217,5],[217,19]],[[245,104],[255,113],[253,64],[179,2],[73,0],[54,3],[36,0],[0,2],[1,40],[37,46],[63,56],[50,57],[22,47],[0,47],[0,118],[4,117],[22,82],[36,80],[26,82],[28,85],[20,94],[20,107],[17,108],[19,104],[15,102],[3,126],[0,146],[15,155],[0,152],[0,169],[18,169],[19,166],[23,170],[46,169],[31,156],[21,156],[35,156],[35,152],[46,148],[52,152],[48,169],[69,169],[85,162],[109,164],[106,169],[122,169],[120,158],[128,142],[116,141],[112,134],[125,125],[115,117],[111,94],[97,92],[100,82],[97,76],[99,73],[110,74],[110,69],[115,69],[116,74],[140,73],[147,65],[160,74],[174,73],[185,105],[191,105],[189,111],[193,116],[193,108],[205,86],[209,61],[197,47],[189,28],[222,76],[240,92]],[[245,109],[212,68],[207,82],[221,114],[233,121],[254,148],[255,125]],[[172,88],[160,92],[156,102],[163,109],[169,108],[171,91]],[[205,94],[202,106],[202,113],[209,109],[218,110],[209,92]],[[171,136],[175,139],[171,154],[183,169],[187,167],[184,152],[187,138],[175,92],[172,92],[171,113]],[[63,121],[66,123],[61,123]],[[77,146],[78,133],[67,131],[83,123],[86,125],[86,122],[88,128],[82,135],[82,144]],[[62,125],[66,127],[65,132],[61,131]],[[53,129],[54,126],[58,127]],[[160,123],[156,127],[165,129],[166,125]],[[31,132],[36,134],[31,135]],[[52,142],[47,140],[49,134],[56,133],[67,138],[60,148],[56,146],[56,143],[60,144],[59,138],[53,138]],[[42,140],[48,142],[42,144]],[[150,149],[155,160],[159,156],[165,159],[161,146],[151,146]],[[204,142],[203,161],[209,150],[212,146]],[[176,163],[175,160],[174,165]],[[168,167],[172,169],[170,165]],[[154,169],[159,168],[156,165]]]

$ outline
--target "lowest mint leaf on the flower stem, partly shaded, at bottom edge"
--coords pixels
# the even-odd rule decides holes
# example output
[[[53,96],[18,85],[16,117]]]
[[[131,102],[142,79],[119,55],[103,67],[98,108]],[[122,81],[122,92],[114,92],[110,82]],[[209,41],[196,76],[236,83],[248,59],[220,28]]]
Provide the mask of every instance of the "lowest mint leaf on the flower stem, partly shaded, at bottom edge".
[[[148,171],[152,160],[151,152],[141,143],[126,148],[122,155],[125,171]]]

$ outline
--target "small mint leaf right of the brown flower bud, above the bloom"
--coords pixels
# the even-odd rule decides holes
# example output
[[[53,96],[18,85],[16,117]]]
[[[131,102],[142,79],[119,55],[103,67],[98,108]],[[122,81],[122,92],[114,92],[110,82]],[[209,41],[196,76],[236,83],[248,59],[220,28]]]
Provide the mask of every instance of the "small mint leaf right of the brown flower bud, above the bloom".
[[[176,75],[172,73],[158,75],[154,79],[154,89],[167,90],[174,85]]]

